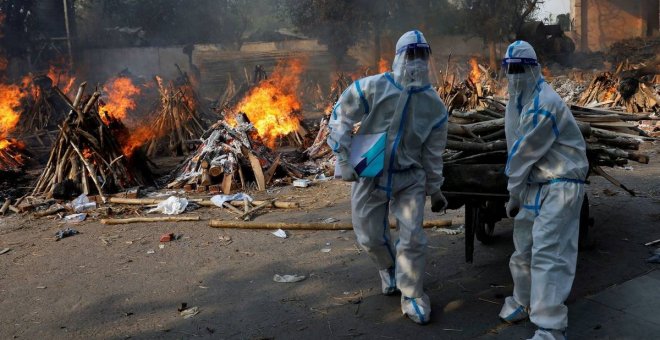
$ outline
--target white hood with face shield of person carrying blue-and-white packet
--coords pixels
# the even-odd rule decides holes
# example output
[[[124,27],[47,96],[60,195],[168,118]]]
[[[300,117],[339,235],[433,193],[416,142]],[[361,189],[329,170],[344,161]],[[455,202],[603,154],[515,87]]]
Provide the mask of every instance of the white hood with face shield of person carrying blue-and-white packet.
[[[403,86],[426,86],[429,80],[431,48],[420,31],[404,33],[396,43],[392,63],[394,80]]]

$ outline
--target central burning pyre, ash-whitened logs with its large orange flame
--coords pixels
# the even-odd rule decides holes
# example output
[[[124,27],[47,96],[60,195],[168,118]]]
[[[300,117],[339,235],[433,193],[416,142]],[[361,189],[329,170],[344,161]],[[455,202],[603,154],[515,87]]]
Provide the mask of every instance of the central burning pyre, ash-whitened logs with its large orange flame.
[[[294,178],[308,172],[287,162],[273,148],[283,143],[302,146],[297,97],[302,64],[280,63],[270,78],[259,82],[202,136],[202,144],[175,172],[168,188],[229,193],[254,183],[265,190],[279,171]]]

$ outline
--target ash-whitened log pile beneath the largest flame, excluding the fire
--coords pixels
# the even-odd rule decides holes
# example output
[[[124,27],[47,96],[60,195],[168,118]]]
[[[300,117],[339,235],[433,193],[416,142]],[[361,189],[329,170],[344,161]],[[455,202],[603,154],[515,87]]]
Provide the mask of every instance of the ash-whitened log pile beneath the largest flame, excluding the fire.
[[[235,126],[219,120],[202,140],[197,151],[175,170],[168,189],[228,194],[240,185],[241,190],[262,191],[278,172],[293,178],[307,175],[265,146],[243,113],[236,117]]]

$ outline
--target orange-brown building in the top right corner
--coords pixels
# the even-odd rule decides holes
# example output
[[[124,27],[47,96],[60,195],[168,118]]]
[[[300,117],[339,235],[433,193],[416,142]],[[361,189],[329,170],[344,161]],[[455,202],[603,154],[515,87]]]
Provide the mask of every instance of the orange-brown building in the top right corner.
[[[660,34],[659,0],[571,0],[572,38],[578,51]]]

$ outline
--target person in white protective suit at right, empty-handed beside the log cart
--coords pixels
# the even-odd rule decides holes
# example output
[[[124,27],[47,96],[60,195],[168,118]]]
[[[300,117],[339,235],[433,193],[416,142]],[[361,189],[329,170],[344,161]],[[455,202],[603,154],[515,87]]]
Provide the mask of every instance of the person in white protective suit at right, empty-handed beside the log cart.
[[[571,111],[541,76],[529,43],[509,45],[502,65],[509,90],[506,210],[515,217],[515,252],[509,262],[513,296],[500,317],[507,322],[529,317],[538,327],[532,339],[564,339],[564,301],[575,277],[589,169],[586,145]]]

